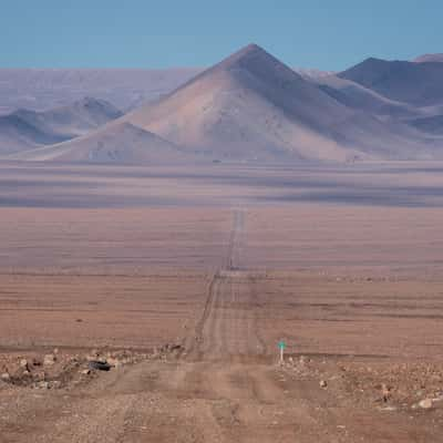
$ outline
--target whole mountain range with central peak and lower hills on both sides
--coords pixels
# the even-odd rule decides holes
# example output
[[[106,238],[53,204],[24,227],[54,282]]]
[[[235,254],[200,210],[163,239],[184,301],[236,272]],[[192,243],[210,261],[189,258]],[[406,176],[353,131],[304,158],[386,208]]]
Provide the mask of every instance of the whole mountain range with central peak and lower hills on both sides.
[[[132,104],[125,83],[119,92],[125,99],[114,101],[130,109],[124,115],[87,99],[1,116],[0,154],[99,163],[443,158],[439,56],[298,73],[251,44],[205,71],[163,72],[156,83],[163,86],[151,78],[145,91],[156,93]],[[101,97],[119,91],[106,82],[96,87]]]

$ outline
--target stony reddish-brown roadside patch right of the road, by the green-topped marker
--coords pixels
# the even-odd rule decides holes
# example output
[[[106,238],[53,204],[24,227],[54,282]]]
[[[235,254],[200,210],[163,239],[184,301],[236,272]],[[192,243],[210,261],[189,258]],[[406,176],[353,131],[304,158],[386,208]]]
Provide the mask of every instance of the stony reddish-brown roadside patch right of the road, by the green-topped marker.
[[[282,368],[299,380],[317,380],[320,388],[361,408],[443,413],[443,365],[435,362],[392,363],[292,356]]]

